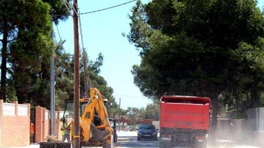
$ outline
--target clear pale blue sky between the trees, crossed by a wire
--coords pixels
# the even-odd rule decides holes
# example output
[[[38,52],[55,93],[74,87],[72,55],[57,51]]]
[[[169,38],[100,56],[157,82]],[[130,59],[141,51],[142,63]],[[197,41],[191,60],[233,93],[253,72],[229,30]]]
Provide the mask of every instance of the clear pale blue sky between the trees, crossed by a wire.
[[[125,3],[129,0],[79,0],[81,13],[111,7]],[[150,0],[142,0],[147,3]],[[143,97],[139,88],[133,83],[131,74],[132,65],[140,64],[140,57],[133,45],[122,32],[128,33],[128,14],[136,2],[132,2],[113,9],[101,12],[81,15],[82,33],[84,46],[87,48],[90,59],[95,60],[101,52],[104,55],[104,65],[101,67],[100,75],[107,80],[108,86],[114,89],[114,97],[119,103],[121,97],[121,108],[146,107],[152,101]],[[259,7],[264,6],[264,0],[259,0]],[[66,39],[64,48],[73,53],[73,20],[71,17],[65,22],[60,22],[58,30],[62,39]],[[58,40],[57,28],[54,31]],[[80,38],[81,39],[81,38]],[[81,45],[81,44],[80,44]]]

